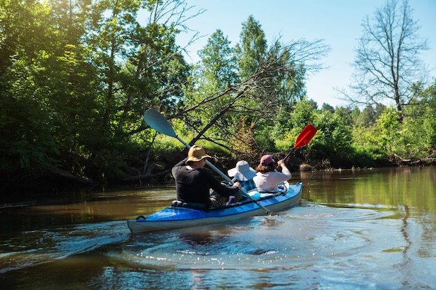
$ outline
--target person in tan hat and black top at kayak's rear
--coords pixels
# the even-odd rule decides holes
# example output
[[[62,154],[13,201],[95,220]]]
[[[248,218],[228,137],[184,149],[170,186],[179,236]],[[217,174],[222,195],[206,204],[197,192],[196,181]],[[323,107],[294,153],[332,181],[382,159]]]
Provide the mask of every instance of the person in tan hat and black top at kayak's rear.
[[[240,195],[239,182],[235,182],[233,186],[225,186],[212,175],[212,172],[204,168],[206,158],[210,156],[205,153],[203,147],[194,145],[189,149],[187,158],[177,163],[171,170],[176,179],[177,200],[188,204],[188,207],[189,204],[212,207],[210,189],[224,197]]]

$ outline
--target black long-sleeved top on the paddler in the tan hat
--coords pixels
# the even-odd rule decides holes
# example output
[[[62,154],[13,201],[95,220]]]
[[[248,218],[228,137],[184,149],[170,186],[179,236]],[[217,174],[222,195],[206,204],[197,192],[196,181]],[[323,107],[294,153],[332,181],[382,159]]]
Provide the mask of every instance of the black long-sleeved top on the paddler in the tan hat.
[[[188,169],[184,159],[176,164],[171,171],[176,179],[177,200],[180,202],[196,202],[210,207],[210,188],[219,195],[228,197],[239,191],[236,186],[221,184],[212,173],[205,168]]]

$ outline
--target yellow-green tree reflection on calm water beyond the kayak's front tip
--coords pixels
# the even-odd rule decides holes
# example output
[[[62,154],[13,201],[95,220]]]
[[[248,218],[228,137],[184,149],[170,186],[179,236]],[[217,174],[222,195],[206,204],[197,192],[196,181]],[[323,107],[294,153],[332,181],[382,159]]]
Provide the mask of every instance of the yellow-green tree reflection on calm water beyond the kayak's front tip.
[[[431,168],[387,168],[301,172],[303,198],[322,204],[406,204],[436,213],[436,170]],[[316,191],[314,191],[316,190]]]

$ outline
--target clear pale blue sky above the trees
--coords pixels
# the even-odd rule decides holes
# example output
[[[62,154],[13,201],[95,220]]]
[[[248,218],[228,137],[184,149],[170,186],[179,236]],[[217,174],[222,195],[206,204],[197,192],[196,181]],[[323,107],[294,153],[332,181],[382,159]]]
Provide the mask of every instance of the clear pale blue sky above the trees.
[[[325,69],[308,75],[306,90],[309,99],[318,107],[327,103],[345,106],[337,90],[348,90],[352,82],[357,39],[363,30],[364,17],[373,17],[376,8],[382,8],[385,0],[186,0],[192,11],[205,9],[185,23],[189,29],[198,31],[203,38],[187,47],[187,61],[199,61],[197,51],[202,49],[208,38],[221,29],[231,42],[239,42],[242,22],[250,15],[258,21],[265,32],[268,45],[281,38],[283,43],[295,40],[323,40],[331,51],[320,61]],[[436,77],[436,0],[410,0],[412,17],[421,26],[418,35],[427,39],[430,49],[421,53],[421,60],[430,69],[430,80]],[[179,45],[187,43],[192,34],[178,38]]]

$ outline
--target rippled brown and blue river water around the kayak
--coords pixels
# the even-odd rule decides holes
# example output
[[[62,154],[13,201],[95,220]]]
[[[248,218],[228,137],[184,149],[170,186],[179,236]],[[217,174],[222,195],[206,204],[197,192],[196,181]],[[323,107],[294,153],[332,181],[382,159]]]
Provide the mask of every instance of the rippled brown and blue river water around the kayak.
[[[1,289],[436,289],[436,168],[296,172],[301,204],[130,234],[174,188],[0,207]]]

